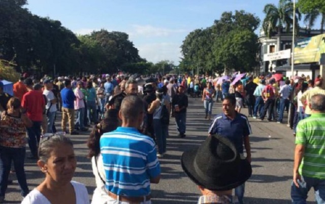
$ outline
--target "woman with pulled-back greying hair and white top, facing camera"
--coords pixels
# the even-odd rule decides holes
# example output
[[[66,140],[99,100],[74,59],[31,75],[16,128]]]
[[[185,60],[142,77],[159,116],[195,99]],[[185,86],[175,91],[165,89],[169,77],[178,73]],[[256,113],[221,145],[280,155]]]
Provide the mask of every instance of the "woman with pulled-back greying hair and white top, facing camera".
[[[85,185],[71,181],[77,161],[69,138],[48,134],[41,138],[37,162],[45,180],[23,199],[22,204],[89,204]]]

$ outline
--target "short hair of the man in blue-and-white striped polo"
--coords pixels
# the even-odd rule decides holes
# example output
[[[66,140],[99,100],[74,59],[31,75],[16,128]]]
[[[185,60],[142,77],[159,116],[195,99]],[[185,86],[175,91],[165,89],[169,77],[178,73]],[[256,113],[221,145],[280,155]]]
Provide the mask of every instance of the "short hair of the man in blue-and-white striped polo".
[[[144,112],[143,100],[135,95],[128,95],[122,100],[121,114],[123,119],[136,120]]]

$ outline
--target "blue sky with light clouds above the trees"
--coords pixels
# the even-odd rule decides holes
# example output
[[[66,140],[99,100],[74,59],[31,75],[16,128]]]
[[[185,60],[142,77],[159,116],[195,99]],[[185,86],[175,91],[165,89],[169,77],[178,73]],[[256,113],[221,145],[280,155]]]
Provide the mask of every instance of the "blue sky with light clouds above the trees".
[[[78,34],[102,28],[128,33],[148,61],[180,60],[187,34],[211,26],[224,11],[245,10],[261,20],[278,0],[28,0],[32,14],[61,21]],[[318,27],[317,23],[316,26]],[[301,24],[303,25],[303,24]]]

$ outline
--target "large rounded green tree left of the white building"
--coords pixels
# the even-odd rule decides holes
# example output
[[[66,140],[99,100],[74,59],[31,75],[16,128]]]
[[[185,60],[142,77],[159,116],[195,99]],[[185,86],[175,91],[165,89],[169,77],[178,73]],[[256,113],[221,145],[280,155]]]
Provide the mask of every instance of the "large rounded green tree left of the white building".
[[[222,13],[219,20],[205,29],[191,31],[181,46],[180,69],[222,73],[227,70],[251,71],[258,50],[254,33],[259,19],[245,11]]]

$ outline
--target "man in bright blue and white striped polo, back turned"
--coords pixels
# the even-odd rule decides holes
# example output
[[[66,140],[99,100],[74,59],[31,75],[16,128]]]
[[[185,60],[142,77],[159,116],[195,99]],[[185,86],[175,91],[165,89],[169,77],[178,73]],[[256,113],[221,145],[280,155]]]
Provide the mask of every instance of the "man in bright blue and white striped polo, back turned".
[[[100,140],[106,174],[107,203],[150,204],[150,183],[159,183],[160,164],[155,143],[138,129],[143,121],[141,98],[126,96],[121,104],[121,127]]]

